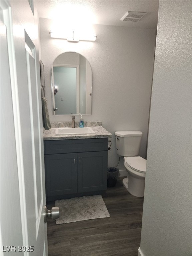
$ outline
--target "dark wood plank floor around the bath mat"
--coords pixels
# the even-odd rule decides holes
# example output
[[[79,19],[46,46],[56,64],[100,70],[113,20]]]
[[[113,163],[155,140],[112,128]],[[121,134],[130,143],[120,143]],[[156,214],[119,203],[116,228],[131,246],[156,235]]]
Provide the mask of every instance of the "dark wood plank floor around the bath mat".
[[[49,256],[137,256],[140,246],[143,198],[122,185],[107,188],[103,200],[109,218],[56,225],[47,222]],[[48,209],[54,202],[47,203]]]

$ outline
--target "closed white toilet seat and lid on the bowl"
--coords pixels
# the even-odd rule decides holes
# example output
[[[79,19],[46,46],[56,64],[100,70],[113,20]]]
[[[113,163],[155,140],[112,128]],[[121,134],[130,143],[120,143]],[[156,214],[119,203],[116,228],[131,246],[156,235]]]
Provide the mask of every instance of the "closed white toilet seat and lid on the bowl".
[[[145,173],[147,160],[140,156],[131,156],[126,158],[126,164],[133,170]]]

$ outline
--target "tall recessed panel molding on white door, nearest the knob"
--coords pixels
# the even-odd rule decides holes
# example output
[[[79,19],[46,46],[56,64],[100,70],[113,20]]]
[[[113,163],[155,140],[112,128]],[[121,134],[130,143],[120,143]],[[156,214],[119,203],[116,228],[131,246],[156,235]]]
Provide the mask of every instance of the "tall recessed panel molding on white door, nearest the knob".
[[[42,165],[41,165],[41,136],[39,123],[39,104],[37,88],[37,66],[36,66],[36,49],[25,31],[26,63],[29,91],[29,109],[31,121],[31,144],[33,159],[33,181],[34,181],[34,199],[36,215],[36,239],[38,238],[39,226],[43,208],[43,188],[42,188]],[[35,74],[35,78],[34,78]],[[33,88],[33,89],[32,89]],[[34,88],[36,88],[34,90]],[[34,129],[38,126],[38,130]],[[40,170],[40,172],[39,172]],[[40,188],[40,191],[39,189]],[[40,193],[40,194],[39,194]],[[40,199],[40,200],[39,200]]]

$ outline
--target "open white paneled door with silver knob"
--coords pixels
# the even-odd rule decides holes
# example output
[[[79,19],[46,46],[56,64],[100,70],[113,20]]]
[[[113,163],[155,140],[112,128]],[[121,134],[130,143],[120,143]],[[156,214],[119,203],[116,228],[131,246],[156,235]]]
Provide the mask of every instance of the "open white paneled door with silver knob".
[[[48,252],[37,21],[28,0],[0,4],[0,255],[43,256]]]

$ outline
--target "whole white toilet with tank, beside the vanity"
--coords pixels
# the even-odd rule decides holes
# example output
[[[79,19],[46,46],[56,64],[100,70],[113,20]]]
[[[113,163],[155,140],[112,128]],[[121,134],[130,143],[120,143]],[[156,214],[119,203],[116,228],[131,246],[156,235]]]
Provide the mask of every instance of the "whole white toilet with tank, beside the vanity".
[[[124,166],[127,170],[127,178],[123,179],[123,185],[127,191],[137,197],[144,196],[146,159],[137,156],[143,135],[140,131],[120,131],[116,135],[116,152],[124,156]]]

